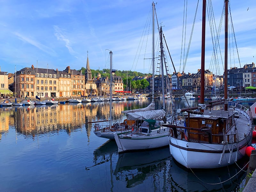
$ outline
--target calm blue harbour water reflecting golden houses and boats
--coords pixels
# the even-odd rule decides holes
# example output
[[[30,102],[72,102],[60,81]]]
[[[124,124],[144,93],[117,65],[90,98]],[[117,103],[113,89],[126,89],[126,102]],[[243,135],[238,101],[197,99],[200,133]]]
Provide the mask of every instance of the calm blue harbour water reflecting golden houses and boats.
[[[114,101],[113,121],[149,102]],[[187,106],[184,100],[174,105]],[[109,118],[106,101],[3,107],[0,118],[1,191],[236,191],[246,175],[237,165],[193,173],[173,160],[168,147],[118,155],[115,141],[95,136],[93,124],[85,124]]]

